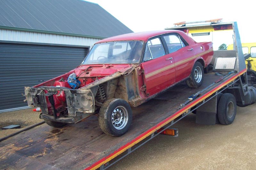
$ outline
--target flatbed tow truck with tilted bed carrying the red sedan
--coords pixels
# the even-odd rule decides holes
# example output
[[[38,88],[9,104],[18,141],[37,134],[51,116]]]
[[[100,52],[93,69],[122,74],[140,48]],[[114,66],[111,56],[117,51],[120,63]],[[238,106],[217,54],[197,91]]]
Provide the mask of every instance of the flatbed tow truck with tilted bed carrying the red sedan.
[[[201,87],[189,88],[181,83],[132,108],[132,125],[121,137],[104,134],[98,125],[97,115],[61,129],[46,124],[29,129],[0,143],[0,168],[106,169],[158,134],[178,136],[178,129],[170,127],[191,112],[196,113],[197,123],[232,123],[236,103],[246,106],[256,100],[255,88],[248,86],[236,22],[190,27],[184,24],[172,29],[176,28],[184,31],[205,28],[233,30],[235,50],[214,53],[213,71],[228,74],[216,75],[205,70],[208,73],[204,75]],[[230,97],[231,94],[236,100],[233,100],[233,95]]]

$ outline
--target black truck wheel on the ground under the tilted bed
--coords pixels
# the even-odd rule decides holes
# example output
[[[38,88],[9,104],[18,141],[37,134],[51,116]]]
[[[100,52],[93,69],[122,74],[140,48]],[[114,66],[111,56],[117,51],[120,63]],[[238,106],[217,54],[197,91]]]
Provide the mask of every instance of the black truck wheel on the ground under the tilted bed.
[[[235,120],[236,98],[233,94],[222,94],[218,104],[217,114],[220,124],[229,125]]]

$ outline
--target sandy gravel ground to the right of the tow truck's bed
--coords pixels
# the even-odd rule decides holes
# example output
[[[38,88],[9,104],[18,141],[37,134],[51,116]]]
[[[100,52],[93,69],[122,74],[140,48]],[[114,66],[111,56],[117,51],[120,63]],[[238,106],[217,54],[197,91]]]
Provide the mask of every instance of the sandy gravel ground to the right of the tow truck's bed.
[[[109,169],[256,169],[256,104],[237,107],[231,125],[199,125],[190,114]]]

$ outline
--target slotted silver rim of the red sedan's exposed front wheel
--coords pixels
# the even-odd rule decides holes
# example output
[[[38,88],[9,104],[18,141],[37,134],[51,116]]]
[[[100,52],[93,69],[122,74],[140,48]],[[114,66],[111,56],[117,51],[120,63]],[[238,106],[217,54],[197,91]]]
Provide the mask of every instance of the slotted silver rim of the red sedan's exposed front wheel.
[[[128,111],[123,106],[117,106],[111,115],[112,124],[115,129],[124,129],[128,122]]]

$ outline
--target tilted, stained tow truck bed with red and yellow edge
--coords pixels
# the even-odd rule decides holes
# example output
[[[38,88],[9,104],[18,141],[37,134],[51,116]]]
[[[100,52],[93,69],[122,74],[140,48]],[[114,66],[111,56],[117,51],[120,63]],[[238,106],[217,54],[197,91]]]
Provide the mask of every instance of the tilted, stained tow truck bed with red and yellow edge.
[[[189,88],[181,83],[155,99],[132,108],[132,126],[121,137],[104,134],[96,115],[62,129],[40,125],[0,143],[0,169],[99,168],[228,85],[245,71],[229,75],[179,110],[180,104],[188,100],[189,96],[211,85],[220,76],[205,74],[200,88]]]

